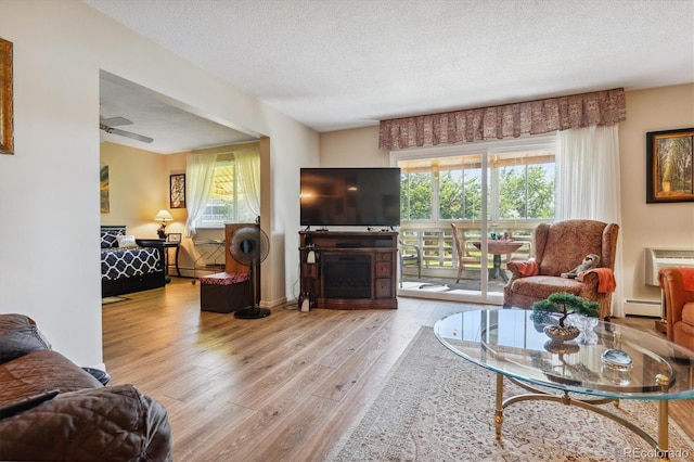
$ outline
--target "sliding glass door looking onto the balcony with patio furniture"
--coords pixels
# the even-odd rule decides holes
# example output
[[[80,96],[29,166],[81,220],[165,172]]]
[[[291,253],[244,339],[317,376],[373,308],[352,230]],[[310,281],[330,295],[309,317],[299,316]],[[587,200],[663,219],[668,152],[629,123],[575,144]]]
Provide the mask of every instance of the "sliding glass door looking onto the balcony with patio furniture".
[[[401,295],[501,304],[505,262],[554,217],[554,140],[391,153],[401,169]]]

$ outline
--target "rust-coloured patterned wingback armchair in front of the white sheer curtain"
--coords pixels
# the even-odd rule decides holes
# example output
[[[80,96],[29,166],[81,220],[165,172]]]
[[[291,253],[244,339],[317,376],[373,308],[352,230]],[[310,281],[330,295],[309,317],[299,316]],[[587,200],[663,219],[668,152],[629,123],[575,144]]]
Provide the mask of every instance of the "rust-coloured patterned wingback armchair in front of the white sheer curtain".
[[[506,264],[512,277],[503,288],[503,306],[532,308],[535,301],[555,292],[566,292],[601,306],[601,319],[612,313],[613,270],[619,226],[595,220],[565,220],[538,224],[532,231],[534,259]],[[600,256],[595,270],[562,278],[589,254]]]

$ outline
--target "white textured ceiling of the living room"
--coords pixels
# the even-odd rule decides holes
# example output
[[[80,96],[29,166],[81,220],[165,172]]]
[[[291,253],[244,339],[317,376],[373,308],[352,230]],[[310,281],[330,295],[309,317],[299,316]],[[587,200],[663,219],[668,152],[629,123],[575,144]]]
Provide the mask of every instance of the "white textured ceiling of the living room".
[[[692,0],[82,1],[320,132],[694,81]]]

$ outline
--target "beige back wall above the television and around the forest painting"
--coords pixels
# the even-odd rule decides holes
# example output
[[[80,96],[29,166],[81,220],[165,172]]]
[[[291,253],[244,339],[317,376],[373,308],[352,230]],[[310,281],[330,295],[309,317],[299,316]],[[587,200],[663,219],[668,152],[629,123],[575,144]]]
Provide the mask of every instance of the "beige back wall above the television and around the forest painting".
[[[627,92],[627,121],[619,127],[625,298],[660,298],[643,282],[644,247],[694,248],[693,203],[645,203],[645,133],[686,127],[694,127],[694,85]],[[389,165],[377,147],[378,127],[321,133],[320,146],[322,167]]]

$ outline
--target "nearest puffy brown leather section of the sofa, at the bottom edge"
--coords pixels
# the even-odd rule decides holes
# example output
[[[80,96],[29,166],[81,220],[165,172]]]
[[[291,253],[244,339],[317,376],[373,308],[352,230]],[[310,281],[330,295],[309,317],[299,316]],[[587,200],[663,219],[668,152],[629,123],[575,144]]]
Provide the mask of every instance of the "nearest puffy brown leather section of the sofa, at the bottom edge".
[[[0,420],[2,460],[169,461],[164,407],[132,385],[61,393]]]

